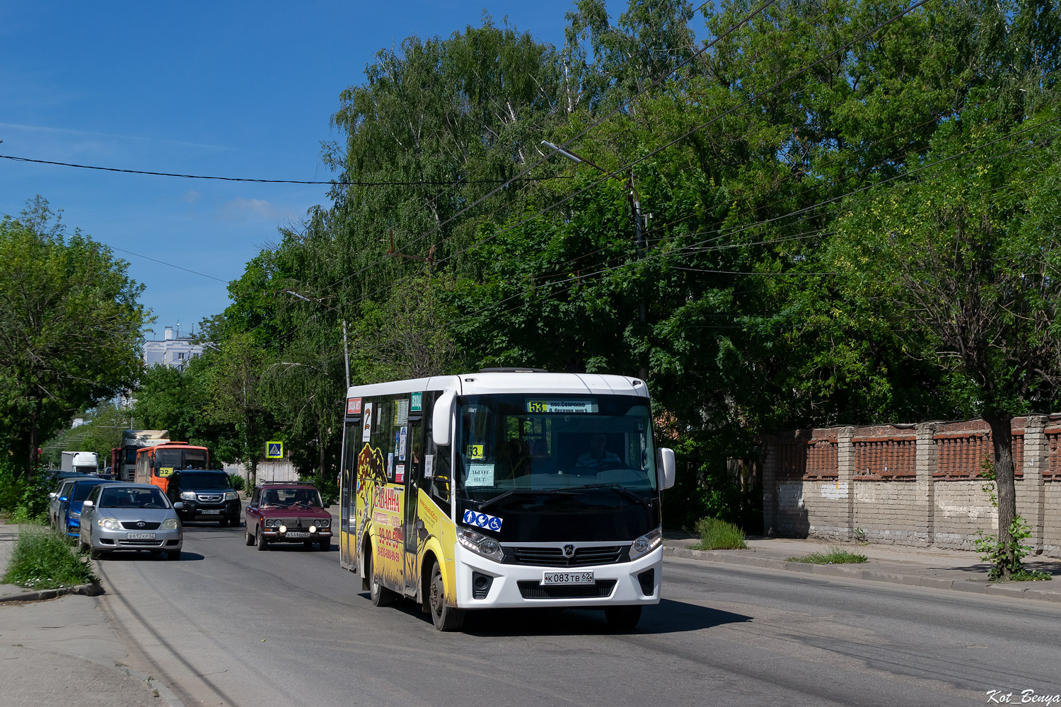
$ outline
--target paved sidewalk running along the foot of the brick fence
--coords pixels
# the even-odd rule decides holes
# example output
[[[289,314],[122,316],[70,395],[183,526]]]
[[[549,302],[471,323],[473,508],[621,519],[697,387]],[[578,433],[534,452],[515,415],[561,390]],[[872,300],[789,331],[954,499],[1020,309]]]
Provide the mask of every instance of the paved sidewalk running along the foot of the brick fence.
[[[788,558],[802,558],[812,552],[828,551],[837,544],[816,540],[752,537],[748,540],[747,550],[690,549],[691,545],[697,543],[696,538],[673,536],[663,541],[663,554],[828,577],[1061,603],[1061,560],[1057,558],[1025,558],[1025,565],[1029,569],[1051,573],[1055,578],[1051,581],[993,583],[988,581],[990,565],[981,562],[977,553],[961,550],[843,543],[839,547],[849,552],[865,554],[869,559],[868,562],[852,565],[812,565],[788,562]]]

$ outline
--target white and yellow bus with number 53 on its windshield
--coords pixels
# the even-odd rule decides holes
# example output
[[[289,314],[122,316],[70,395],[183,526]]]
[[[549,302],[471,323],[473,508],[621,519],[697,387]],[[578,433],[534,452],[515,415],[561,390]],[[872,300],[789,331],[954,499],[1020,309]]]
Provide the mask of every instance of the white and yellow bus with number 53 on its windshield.
[[[465,612],[660,600],[660,492],[645,383],[484,370],[347,393],[341,563],[372,603],[407,597],[441,631]]]

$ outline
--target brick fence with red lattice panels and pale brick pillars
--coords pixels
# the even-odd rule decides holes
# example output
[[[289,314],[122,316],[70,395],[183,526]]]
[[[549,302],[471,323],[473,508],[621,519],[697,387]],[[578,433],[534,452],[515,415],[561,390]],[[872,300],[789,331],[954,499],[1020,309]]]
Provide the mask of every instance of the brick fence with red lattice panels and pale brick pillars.
[[[1028,543],[1061,556],[1061,414],[1012,425],[1016,512]],[[830,427],[763,438],[763,524],[788,537],[973,550],[998,517],[979,474],[982,420]]]

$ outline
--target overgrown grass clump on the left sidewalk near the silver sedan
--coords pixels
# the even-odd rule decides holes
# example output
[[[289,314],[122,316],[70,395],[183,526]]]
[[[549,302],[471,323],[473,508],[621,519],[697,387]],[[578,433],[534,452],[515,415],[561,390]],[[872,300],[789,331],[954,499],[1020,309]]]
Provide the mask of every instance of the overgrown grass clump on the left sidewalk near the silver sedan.
[[[27,589],[57,589],[98,582],[87,555],[74,554],[66,535],[23,528],[0,580]]]

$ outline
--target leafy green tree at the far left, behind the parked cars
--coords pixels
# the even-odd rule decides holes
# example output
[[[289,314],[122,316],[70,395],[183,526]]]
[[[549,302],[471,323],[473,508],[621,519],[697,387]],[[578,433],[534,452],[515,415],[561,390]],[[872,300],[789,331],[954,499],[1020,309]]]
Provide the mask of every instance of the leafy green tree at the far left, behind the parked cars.
[[[0,220],[0,442],[28,477],[73,412],[136,381],[145,313],[126,272],[39,196]]]

